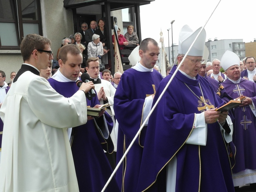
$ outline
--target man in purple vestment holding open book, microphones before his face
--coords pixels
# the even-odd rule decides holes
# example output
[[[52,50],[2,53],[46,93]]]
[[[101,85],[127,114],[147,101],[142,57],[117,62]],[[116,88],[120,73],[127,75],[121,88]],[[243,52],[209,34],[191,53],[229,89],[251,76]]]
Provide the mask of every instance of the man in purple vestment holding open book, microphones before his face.
[[[76,86],[76,80],[79,80],[78,74],[82,61],[79,60],[77,54],[81,53],[76,46],[62,47],[59,51],[60,68],[52,78],[48,79],[52,88],[64,97],[71,97],[79,89]],[[89,107],[99,107],[97,94],[92,97],[92,100],[86,99],[86,103]],[[112,168],[103,149],[108,153],[114,150],[110,138],[113,121],[109,114],[102,115],[103,112],[105,110],[100,113],[99,118],[88,116],[86,124],[72,128],[71,150],[81,192],[100,192],[112,174]],[[115,177],[105,191],[120,191]]]

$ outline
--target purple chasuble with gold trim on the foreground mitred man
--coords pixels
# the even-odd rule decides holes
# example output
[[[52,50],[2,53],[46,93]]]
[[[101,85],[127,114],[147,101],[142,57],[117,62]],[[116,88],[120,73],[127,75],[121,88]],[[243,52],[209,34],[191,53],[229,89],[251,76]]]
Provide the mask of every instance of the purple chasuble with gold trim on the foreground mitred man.
[[[171,76],[161,81],[153,104]],[[206,146],[185,143],[195,113],[204,112],[206,107],[184,82],[201,99],[203,92],[209,108],[223,104],[205,78],[197,75],[192,80],[180,71],[176,73],[149,119],[137,191],[164,191],[165,166],[176,155],[175,192],[233,192],[231,164],[219,124],[207,124]]]

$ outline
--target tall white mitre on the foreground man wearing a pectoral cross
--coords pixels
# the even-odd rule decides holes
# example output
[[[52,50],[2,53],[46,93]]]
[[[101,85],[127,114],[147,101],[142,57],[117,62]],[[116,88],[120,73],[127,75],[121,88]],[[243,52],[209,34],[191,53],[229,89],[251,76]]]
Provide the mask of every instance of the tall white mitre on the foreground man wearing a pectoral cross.
[[[185,55],[188,52],[188,49],[192,45],[192,42],[194,42],[201,28],[202,27],[198,28],[195,32],[193,32],[193,30],[188,25],[184,25],[181,28],[181,31],[179,34],[179,48],[178,48],[179,54]],[[190,52],[188,53],[188,55],[203,56],[205,39],[206,39],[206,32],[203,29],[201,34],[199,34],[197,40],[195,41],[193,47],[191,48]]]

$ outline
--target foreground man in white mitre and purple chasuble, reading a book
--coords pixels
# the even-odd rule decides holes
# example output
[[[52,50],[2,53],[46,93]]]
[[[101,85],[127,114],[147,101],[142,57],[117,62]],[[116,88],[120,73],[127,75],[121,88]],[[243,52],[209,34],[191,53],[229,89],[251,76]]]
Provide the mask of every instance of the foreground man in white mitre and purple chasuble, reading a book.
[[[180,69],[150,116],[138,192],[234,191],[226,149],[232,140],[232,122],[228,112],[215,111],[223,101],[208,80],[198,75],[205,30],[184,59],[200,30],[193,32],[188,25],[181,29]],[[153,104],[172,77],[168,75],[160,82]]]

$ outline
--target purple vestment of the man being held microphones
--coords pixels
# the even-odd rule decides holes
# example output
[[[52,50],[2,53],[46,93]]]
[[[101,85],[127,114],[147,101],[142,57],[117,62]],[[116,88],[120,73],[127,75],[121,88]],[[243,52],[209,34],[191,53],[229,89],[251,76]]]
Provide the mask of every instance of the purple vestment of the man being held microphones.
[[[79,89],[76,86],[76,82],[58,82],[52,78],[48,79],[48,81],[52,88],[64,97],[71,97]],[[86,99],[86,102],[87,106],[91,107],[100,104],[97,96],[92,97],[92,100]],[[109,132],[111,133],[113,121],[109,114],[105,113],[105,117]],[[84,125],[74,127],[72,129],[73,131],[75,134],[73,136],[71,150],[79,191],[100,192],[113,172],[103,151],[103,148],[106,150],[106,146],[102,146],[102,144],[107,145],[107,143],[100,136],[93,120],[87,121]],[[110,152],[113,152],[113,148]],[[111,180],[105,191],[120,191],[115,177]]]

